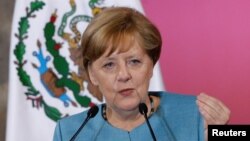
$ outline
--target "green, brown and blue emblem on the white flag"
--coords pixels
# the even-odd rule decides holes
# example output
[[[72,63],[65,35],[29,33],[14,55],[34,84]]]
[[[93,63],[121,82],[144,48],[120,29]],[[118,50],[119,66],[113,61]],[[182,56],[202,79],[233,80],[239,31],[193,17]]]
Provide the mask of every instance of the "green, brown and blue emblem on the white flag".
[[[104,0],[90,0],[89,15],[76,14],[75,0],[69,1],[70,8],[65,13],[59,14],[58,10],[54,9],[44,27],[39,29],[43,38],[30,41],[34,45],[26,42],[32,34],[37,34],[30,32],[29,29],[33,26],[30,21],[36,20],[37,13],[43,10],[46,3],[38,0],[31,2],[26,8],[26,15],[18,22],[18,30],[15,33],[17,43],[13,52],[18,78],[26,88],[24,94],[32,107],[43,109],[45,115],[54,121],[69,115],[65,112],[67,110],[60,110],[54,102],[65,109],[88,108],[103,101],[99,90],[88,83],[88,77],[81,69],[78,51],[83,32],[83,27],[81,29],[78,26],[86,26],[103,9],[103,3]],[[66,53],[63,54],[63,51]],[[31,56],[32,59],[26,59],[26,56]],[[30,67],[27,67],[28,65]],[[31,75],[30,71],[36,75]]]

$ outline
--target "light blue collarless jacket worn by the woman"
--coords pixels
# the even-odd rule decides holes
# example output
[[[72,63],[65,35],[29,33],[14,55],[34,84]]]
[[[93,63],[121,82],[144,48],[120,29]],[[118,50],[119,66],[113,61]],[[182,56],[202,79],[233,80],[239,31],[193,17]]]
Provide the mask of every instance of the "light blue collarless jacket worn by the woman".
[[[203,118],[196,105],[196,97],[168,92],[150,92],[160,97],[160,105],[149,117],[157,141],[203,141]],[[54,141],[69,141],[85,120],[82,112],[57,122]],[[145,123],[128,132],[113,127],[99,112],[90,119],[75,139],[76,141],[153,141]]]

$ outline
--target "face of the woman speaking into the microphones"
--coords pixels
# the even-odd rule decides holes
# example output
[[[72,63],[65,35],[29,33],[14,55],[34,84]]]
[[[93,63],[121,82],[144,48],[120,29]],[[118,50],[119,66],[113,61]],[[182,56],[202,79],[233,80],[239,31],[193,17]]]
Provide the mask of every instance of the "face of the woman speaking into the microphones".
[[[153,62],[137,44],[125,52],[108,51],[89,66],[89,76],[113,110],[135,110],[148,96]]]

